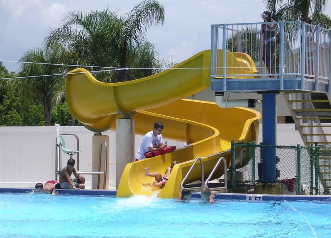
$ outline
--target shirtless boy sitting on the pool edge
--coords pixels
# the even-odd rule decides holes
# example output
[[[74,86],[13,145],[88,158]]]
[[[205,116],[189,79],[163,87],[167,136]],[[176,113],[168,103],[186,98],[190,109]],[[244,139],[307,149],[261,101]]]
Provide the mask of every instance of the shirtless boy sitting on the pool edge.
[[[85,188],[85,177],[78,174],[75,166],[76,161],[69,159],[67,166],[64,167],[60,173],[60,187],[62,189],[84,189]],[[75,179],[71,179],[71,174],[74,174]]]

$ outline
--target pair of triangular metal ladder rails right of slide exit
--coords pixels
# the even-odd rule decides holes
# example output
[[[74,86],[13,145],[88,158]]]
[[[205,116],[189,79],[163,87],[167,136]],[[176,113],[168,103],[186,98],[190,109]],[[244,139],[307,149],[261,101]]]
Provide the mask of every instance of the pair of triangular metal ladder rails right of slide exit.
[[[224,191],[225,193],[227,192],[227,164],[226,164],[226,160],[224,157],[221,157],[217,163],[215,164],[213,170],[211,171],[211,173],[209,174],[208,178],[206,179],[206,181],[204,182],[204,163],[203,160],[201,159],[201,157],[198,157],[195,159],[195,161],[193,162],[191,168],[189,169],[189,171],[187,172],[186,176],[184,177],[183,181],[180,184],[180,188],[179,191],[181,191],[182,187],[185,184],[186,179],[188,178],[188,176],[190,175],[190,173],[192,172],[194,166],[197,164],[197,162],[200,161],[201,164],[201,186],[198,187],[184,187],[184,190],[190,190],[191,192],[200,192],[202,188],[204,187],[208,187],[208,182],[210,181],[210,179],[212,178],[212,176],[214,175],[216,169],[218,168],[218,166],[220,165],[221,161],[224,162],[224,187],[212,187],[210,188],[211,191]]]

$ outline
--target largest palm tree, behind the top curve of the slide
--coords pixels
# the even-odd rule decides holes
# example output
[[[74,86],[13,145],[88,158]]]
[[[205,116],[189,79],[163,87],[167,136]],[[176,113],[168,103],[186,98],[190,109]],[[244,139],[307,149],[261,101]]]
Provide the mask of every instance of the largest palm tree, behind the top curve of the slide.
[[[103,71],[99,80],[128,81],[141,75],[123,69],[160,65],[155,48],[145,37],[148,28],[163,22],[164,8],[155,0],[141,2],[123,17],[109,9],[88,14],[72,11],[65,16],[64,25],[52,31],[45,42],[47,47],[60,43],[70,52],[65,64],[92,65],[93,70]],[[149,62],[140,61],[144,65],[137,65],[139,56]],[[114,71],[104,72],[110,68]]]

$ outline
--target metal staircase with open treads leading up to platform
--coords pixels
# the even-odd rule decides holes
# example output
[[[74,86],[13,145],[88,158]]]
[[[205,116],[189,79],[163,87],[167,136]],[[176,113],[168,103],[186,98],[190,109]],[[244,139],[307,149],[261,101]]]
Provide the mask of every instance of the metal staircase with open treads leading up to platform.
[[[331,103],[327,93],[284,93],[297,130],[309,151],[323,193],[331,194]],[[319,187],[319,184],[315,184]],[[316,191],[319,194],[319,189]]]

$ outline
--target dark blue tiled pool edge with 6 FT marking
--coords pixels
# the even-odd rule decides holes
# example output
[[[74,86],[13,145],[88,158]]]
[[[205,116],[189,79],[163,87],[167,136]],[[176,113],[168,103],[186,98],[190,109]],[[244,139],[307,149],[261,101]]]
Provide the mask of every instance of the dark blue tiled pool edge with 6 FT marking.
[[[29,193],[33,188],[0,188],[0,193]],[[66,190],[56,189],[60,195],[81,196],[110,196],[116,197],[116,190]],[[216,200],[241,200],[241,201],[331,201],[327,195],[265,195],[265,194],[242,194],[242,193],[217,193]],[[200,198],[200,193],[193,193],[193,198]]]

